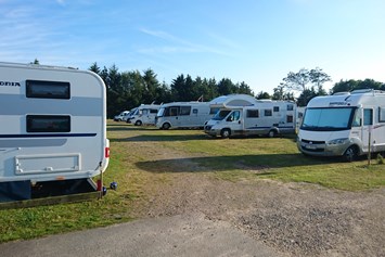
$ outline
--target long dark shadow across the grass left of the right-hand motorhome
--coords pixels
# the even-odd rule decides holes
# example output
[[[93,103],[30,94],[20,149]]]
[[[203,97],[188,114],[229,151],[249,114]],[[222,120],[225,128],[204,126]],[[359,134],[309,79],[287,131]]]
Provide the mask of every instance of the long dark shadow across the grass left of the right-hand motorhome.
[[[323,165],[338,162],[341,162],[339,158],[313,158],[298,153],[159,159],[138,162],[136,166],[150,172],[252,170],[267,175],[271,168]]]

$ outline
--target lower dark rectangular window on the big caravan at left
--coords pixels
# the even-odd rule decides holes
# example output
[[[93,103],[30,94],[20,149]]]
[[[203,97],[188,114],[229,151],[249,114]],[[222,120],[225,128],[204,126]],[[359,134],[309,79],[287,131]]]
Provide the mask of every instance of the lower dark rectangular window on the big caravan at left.
[[[69,132],[68,115],[27,115],[27,132]]]

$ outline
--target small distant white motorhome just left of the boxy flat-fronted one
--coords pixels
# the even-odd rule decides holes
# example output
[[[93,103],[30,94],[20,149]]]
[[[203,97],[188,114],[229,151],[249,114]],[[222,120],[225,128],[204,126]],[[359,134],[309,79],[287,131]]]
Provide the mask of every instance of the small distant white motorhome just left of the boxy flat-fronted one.
[[[127,123],[136,126],[155,125],[155,117],[159,108],[161,105],[158,104],[141,104],[137,107],[132,115],[130,115]]]

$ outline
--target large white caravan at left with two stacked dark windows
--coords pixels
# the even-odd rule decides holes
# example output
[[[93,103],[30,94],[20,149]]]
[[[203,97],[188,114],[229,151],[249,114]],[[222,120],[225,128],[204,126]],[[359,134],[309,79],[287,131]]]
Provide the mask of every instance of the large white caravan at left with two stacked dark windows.
[[[97,74],[0,63],[0,202],[37,190],[97,189],[91,178],[104,172],[110,155],[106,92]]]

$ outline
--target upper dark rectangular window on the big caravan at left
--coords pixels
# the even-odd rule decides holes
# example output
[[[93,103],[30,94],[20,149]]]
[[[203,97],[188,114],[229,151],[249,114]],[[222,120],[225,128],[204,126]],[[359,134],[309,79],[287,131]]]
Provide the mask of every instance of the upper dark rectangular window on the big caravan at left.
[[[26,80],[26,97],[37,99],[69,99],[69,82]]]

